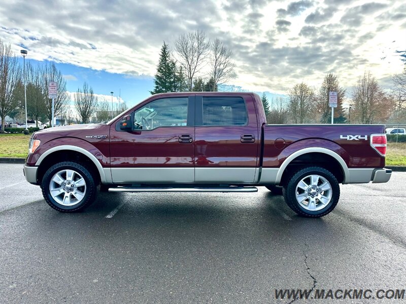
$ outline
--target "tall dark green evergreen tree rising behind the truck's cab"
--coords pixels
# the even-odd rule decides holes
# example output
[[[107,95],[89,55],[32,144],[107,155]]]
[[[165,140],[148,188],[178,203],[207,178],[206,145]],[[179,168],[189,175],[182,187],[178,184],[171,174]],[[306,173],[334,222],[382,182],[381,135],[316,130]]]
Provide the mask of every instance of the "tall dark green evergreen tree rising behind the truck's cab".
[[[158,94],[173,92],[175,73],[175,63],[171,58],[169,46],[163,42],[154,78],[155,87],[153,91],[150,91],[150,93]]]

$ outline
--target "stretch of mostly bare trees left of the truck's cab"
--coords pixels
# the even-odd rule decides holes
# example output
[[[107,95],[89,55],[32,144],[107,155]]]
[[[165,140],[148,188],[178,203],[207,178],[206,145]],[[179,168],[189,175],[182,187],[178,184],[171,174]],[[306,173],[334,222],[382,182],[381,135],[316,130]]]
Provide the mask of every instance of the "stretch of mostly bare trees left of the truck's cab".
[[[0,39],[0,118],[4,131],[6,116],[16,121],[25,120],[24,82],[26,83],[27,117],[38,121],[52,121],[52,99],[48,98],[48,84],[57,83],[57,97],[54,100],[54,116],[65,124],[102,122],[113,118],[126,109],[125,103],[119,103],[114,109],[106,99],[98,100],[93,89],[87,83],[74,94],[76,113],[69,105],[70,96],[66,92],[66,81],[55,63],[48,62],[24,66],[19,64],[11,46]]]

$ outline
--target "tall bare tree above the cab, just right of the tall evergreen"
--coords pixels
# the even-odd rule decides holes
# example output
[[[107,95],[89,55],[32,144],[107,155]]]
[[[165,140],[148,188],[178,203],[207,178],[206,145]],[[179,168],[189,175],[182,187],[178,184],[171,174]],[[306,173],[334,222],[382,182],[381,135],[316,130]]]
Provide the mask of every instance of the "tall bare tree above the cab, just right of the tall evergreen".
[[[200,30],[182,34],[175,42],[175,49],[186,74],[189,91],[193,88],[193,78],[205,63],[210,50],[210,42],[206,42],[206,34]]]

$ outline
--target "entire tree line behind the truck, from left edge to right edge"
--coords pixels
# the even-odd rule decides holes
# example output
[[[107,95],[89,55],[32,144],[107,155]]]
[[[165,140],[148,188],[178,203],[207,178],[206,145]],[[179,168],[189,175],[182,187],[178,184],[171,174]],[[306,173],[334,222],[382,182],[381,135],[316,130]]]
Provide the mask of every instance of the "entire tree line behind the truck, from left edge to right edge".
[[[235,78],[232,52],[219,39],[210,41],[202,31],[180,35],[174,51],[163,42],[160,50],[154,89],[151,94],[185,91],[218,91]],[[58,95],[55,100],[55,116],[65,122],[102,122],[113,118],[126,109],[119,102],[116,109],[110,101],[98,98],[91,86],[84,83],[74,94],[76,113],[69,106],[70,96],[66,92],[66,81],[54,63],[29,62],[23,67],[11,46],[0,39],[0,117],[2,130],[6,116],[24,121],[24,80],[26,80],[27,113],[31,119],[52,119],[52,100],[48,98],[49,82],[56,82]],[[287,90],[286,98],[268,100],[262,94],[268,123],[329,123],[331,108],[328,106],[329,92],[337,92],[337,107],[334,108],[334,123],[405,123],[406,122],[406,67],[393,76],[391,90],[384,90],[371,72],[366,71],[354,83],[350,92],[340,85],[337,75],[328,73],[322,84],[315,89],[301,82]],[[228,88],[228,89],[227,89]],[[347,97],[349,96],[349,97]],[[347,107],[343,107],[347,104]]]

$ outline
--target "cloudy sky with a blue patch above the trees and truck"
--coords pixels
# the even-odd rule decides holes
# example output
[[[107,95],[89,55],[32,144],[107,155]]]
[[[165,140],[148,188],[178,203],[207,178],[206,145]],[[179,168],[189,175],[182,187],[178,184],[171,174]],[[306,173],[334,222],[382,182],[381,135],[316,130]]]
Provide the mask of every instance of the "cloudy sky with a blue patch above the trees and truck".
[[[0,36],[31,60],[58,63],[75,91],[121,89],[127,102],[149,95],[162,42],[194,30],[234,54],[230,84],[285,94],[295,83],[319,86],[334,72],[346,88],[370,70],[384,87],[401,72],[406,50],[404,0],[9,1]],[[400,52],[400,53],[399,53]],[[402,61],[403,59],[403,61]]]

